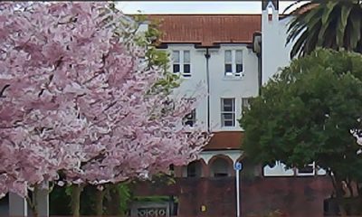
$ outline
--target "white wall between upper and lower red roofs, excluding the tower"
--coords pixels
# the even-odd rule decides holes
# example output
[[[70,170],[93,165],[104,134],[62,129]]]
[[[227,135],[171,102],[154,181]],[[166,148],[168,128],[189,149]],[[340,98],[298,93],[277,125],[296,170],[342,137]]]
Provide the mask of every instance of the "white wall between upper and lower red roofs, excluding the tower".
[[[191,76],[184,77],[182,71],[179,72],[183,77],[183,82],[176,92],[192,96],[200,83],[204,84],[207,92],[206,49],[195,48],[194,44],[168,44],[167,52],[172,56],[174,51],[190,52]],[[225,51],[232,51],[232,63],[235,63],[235,52],[233,51],[243,52],[243,72],[240,76],[225,75]],[[244,98],[258,95],[258,58],[252,49],[246,47],[246,44],[221,44],[220,48],[208,49],[208,53],[210,54],[208,60],[210,107],[207,109],[207,97],[202,99],[195,112],[196,121],[202,123],[207,130],[207,112],[209,110],[211,131],[242,130],[237,121],[241,118],[242,101]],[[180,59],[180,64],[183,64],[182,57]],[[171,61],[171,71],[173,70],[172,63]],[[235,67],[233,66],[233,68]],[[222,99],[234,99],[235,101],[234,127],[223,127],[222,125]]]

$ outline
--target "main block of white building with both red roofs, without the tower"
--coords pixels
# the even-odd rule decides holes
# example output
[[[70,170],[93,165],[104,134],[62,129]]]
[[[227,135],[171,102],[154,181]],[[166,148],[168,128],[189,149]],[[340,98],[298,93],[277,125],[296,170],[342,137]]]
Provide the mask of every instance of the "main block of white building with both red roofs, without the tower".
[[[187,122],[196,121],[215,133],[201,154],[206,171],[184,168],[179,175],[233,175],[233,164],[242,156],[243,128],[238,119],[248,99],[259,94],[260,61],[252,42],[261,31],[261,15],[159,14],[150,18],[160,21],[164,35],[159,48],[170,53],[170,70],[183,77],[176,91],[192,96],[203,84],[208,93]],[[187,175],[187,171],[194,172]]]

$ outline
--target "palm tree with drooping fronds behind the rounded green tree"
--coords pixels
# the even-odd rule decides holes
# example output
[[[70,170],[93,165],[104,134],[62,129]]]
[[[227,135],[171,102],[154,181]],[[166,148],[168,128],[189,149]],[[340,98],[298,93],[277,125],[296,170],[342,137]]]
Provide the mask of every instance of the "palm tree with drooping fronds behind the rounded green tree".
[[[294,42],[291,58],[316,47],[362,53],[361,0],[311,0],[291,15],[287,38],[287,43]]]

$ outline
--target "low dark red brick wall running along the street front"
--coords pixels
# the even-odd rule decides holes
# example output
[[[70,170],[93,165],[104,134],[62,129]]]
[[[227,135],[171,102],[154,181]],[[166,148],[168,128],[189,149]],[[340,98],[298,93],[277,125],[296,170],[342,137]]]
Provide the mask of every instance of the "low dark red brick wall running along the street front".
[[[267,177],[242,180],[242,214],[271,210],[287,212],[289,216],[323,216],[323,200],[332,186],[328,177]],[[135,194],[176,195],[180,216],[222,217],[235,215],[234,177],[177,178],[176,184],[142,183],[134,186]],[[201,206],[206,208],[201,212]]]

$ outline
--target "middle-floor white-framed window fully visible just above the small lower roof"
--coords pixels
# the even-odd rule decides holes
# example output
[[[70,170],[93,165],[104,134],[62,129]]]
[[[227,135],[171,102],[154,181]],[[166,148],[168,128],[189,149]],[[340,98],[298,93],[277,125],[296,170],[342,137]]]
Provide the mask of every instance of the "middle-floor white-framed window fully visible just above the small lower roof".
[[[221,99],[221,125],[222,127],[235,127],[235,99]]]

